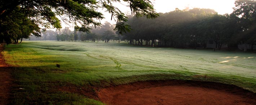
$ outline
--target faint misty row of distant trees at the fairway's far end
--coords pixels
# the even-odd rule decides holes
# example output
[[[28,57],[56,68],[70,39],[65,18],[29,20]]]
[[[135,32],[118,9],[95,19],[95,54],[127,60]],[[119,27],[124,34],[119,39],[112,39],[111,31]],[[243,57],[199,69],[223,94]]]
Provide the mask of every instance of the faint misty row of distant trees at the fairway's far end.
[[[123,36],[118,36],[114,31],[115,25],[105,22],[101,27],[92,27],[90,32],[78,31],[74,28],[74,31],[71,31],[69,27],[65,27],[62,30],[56,29],[46,30],[41,32],[41,37],[30,36],[30,39],[27,40],[54,40],[54,41],[105,41],[109,42],[110,40],[123,40]]]

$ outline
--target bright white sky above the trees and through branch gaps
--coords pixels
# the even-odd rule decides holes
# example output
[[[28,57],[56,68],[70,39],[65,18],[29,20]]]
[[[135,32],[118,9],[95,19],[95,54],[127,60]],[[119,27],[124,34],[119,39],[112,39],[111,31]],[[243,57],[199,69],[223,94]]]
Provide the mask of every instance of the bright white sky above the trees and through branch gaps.
[[[175,10],[175,8],[179,8],[180,10],[189,7],[193,8],[209,8],[215,10],[218,14],[232,13],[233,7],[235,7],[235,0],[151,0],[156,12],[166,13]],[[131,14],[130,8],[125,7],[125,3],[115,3],[116,7],[118,7],[122,12]],[[98,10],[105,11],[105,10]],[[103,13],[105,19],[101,20],[101,23],[105,23],[105,21],[114,24],[115,21],[111,21],[111,14]],[[62,27],[69,27],[66,24],[62,23]],[[70,28],[73,29],[73,28]]]

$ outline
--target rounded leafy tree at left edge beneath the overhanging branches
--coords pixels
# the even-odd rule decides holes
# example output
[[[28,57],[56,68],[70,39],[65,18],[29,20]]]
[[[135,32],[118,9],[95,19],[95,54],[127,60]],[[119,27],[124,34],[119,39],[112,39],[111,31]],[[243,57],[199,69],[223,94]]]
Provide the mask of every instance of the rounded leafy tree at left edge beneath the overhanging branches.
[[[17,43],[31,34],[40,37],[40,28],[35,21],[27,18],[20,7],[16,7],[8,16],[0,19],[0,33],[6,44],[10,44],[11,40]]]

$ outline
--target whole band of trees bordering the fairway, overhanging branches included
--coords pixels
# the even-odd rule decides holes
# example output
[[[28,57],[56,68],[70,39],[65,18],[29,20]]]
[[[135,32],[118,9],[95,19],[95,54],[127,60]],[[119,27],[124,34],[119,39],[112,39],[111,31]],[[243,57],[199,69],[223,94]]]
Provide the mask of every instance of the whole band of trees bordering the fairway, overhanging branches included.
[[[79,2],[73,0],[76,1],[73,2],[71,0],[67,1],[67,4],[62,0],[50,2],[21,0],[17,1],[17,4],[15,4],[16,2],[11,3],[11,1],[0,3],[0,41],[4,40],[7,44],[17,43],[18,40],[30,38],[31,35],[43,36],[41,39],[44,40],[50,37],[49,39],[56,38],[60,41],[104,40],[106,42],[120,39],[120,35],[122,35],[121,39],[128,40],[129,44],[146,46],[205,48],[208,42],[214,42],[215,48],[219,49],[223,45],[233,48],[237,47],[237,44],[246,44],[251,45],[251,50],[253,50],[253,45],[256,45],[255,0],[236,0],[233,13],[225,15],[217,14],[211,9],[199,8],[185,10],[177,8],[169,13],[158,14],[154,12],[149,0],[140,0],[141,2],[138,3],[128,0],[132,12],[135,13],[135,15],[128,16],[129,18],[118,11],[118,8],[112,6],[111,2],[118,0],[102,0],[102,3],[88,0]],[[79,7],[74,7],[77,4]],[[88,9],[87,5],[92,6],[89,9],[91,15],[84,14]],[[103,17],[101,13],[93,10],[93,5],[101,5],[102,8],[110,12],[111,17],[115,18],[117,22],[115,26],[106,23],[102,27],[97,27],[101,24],[94,21],[93,18],[102,19]],[[46,29],[50,26],[61,28],[60,20],[56,18],[56,15],[66,15],[74,23],[78,22],[82,26],[75,25],[73,32],[67,28],[61,31],[47,31]],[[158,17],[159,15],[160,17]],[[65,18],[62,19],[64,22],[68,22]],[[39,25],[45,28],[41,29]]]

